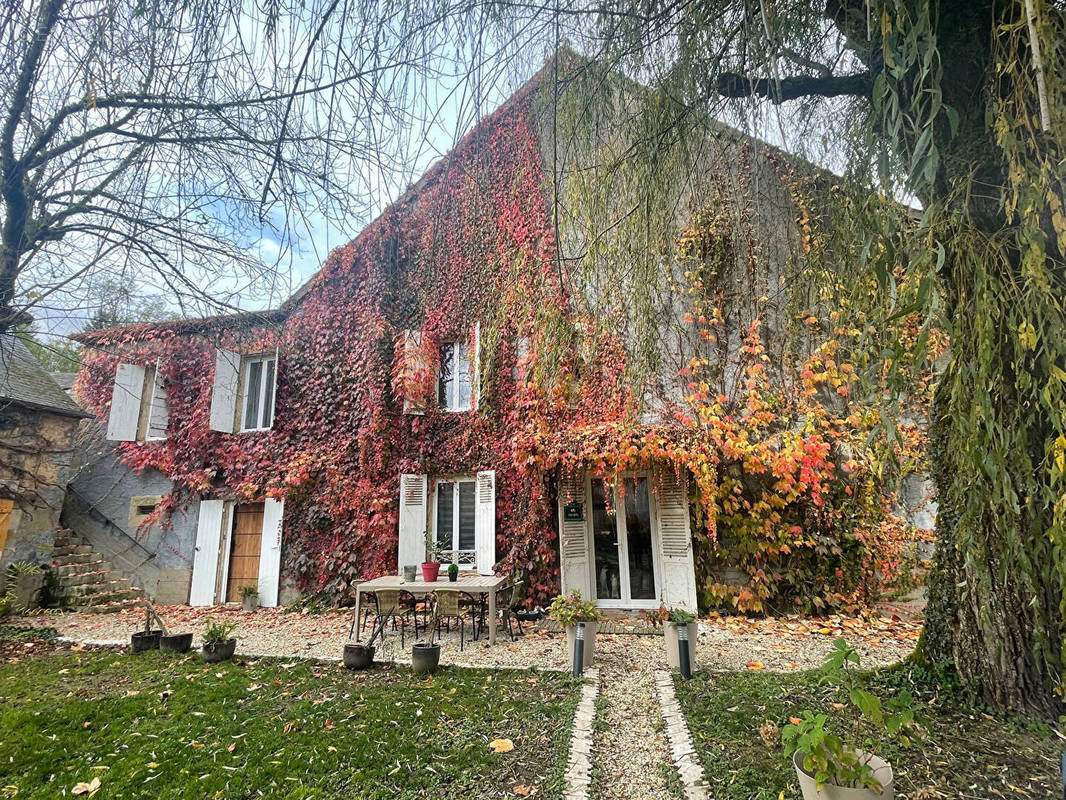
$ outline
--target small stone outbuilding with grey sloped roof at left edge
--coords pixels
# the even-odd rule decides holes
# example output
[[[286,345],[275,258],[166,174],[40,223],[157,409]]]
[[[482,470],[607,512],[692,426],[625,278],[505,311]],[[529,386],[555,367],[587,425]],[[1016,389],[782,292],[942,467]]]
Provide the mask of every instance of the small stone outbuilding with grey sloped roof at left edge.
[[[50,560],[78,426],[91,416],[16,336],[0,336],[0,569]]]

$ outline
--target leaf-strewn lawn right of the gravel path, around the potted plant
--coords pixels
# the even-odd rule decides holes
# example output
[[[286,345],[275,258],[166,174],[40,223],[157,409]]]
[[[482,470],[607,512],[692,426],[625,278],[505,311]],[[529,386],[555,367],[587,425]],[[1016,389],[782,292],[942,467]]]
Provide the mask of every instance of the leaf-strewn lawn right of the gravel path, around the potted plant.
[[[759,726],[788,724],[800,710],[831,714],[835,729],[861,743],[862,729],[851,727],[854,709],[839,690],[821,685],[817,672],[699,674],[677,679],[696,749],[715,800],[778,800],[800,797],[792,765],[781,746],[769,747]],[[895,771],[895,797],[940,798],[1062,797],[1059,759],[1066,741],[1047,724],[985,715],[951,690],[932,688],[909,669],[887,670],[866,678],[883,699],[901,688],[916,698],[925,722],[924,738],[909,749],[883,753]],[[846,716],[843,716],[846,715]],[[934,790],[935,789],[935,790]]]

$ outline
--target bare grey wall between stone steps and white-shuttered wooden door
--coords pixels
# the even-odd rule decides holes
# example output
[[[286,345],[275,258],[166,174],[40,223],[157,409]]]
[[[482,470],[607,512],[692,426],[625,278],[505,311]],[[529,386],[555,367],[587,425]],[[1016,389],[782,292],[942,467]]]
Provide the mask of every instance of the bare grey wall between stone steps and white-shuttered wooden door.
[[[140,529],[172,483],[155,469],[136,474],[122,464],[114,443],[104,439],[103,427],[96,421],[82,427],[77,466],[63,525],[84,537],[116,572],[157,603],[187,603],[199,503],[194,500],[175,513],[166,528]]]

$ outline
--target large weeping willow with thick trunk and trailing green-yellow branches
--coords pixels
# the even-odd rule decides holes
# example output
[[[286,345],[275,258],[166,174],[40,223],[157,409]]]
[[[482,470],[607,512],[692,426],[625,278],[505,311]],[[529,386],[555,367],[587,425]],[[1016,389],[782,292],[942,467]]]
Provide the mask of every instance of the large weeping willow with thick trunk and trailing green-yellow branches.
[[[852,266],[893,297],[904,267],[920,282],[909,297],[937,307],[951,340],[934,406],[940,514],[921,655],[953,663],[989,703],[1050,711],[1066,666],[1066,6],[649,0],[594,11],[568,30],[580,14],[555,12],[554,34],[660,90],[658,109],[668,97],[680,118],[754,98],[793,121],[822,112],[823,137],[843,143],[871,198],[850,231],[865,242]],[[883,195],[916,197],[915,224],[883,224]],[[878,347],[869,378],[884,388],[902,351]]]

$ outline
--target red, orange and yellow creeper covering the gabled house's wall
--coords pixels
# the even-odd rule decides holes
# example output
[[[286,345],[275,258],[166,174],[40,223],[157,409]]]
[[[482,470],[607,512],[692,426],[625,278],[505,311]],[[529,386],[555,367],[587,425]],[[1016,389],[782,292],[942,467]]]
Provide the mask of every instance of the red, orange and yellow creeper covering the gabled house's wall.
[[[165,528],[200,496],[284,497],[282,574],[343,598],[395,567],[401,474],[491,468],[501,567],[545,604],[559,586],[560,470],[613,480],[665,464],[691,486],[705,605],[870,598],[905,531],[885,513],[839,341],[809,308],[792,309],[802,334],[790,329],[789,276],[813,235],[800,181],[779,154],[696,126],[658,159],[674,181],[660,191],[619,165],[619,128],[589,117],[582,139],[551,94],[533,81],[483,121],[332,253],[280,323],[85,337],[78,390],[101,418],[117,363],[160,358],[168,437],[118,446],[130,467],[174,481],[146,525]],[[560,131],[576,144],[560,148]],[[613,190],[585,180],[597,169],[618,170]],[[475,324],[478,409],[442,412],[438,346]],[[279,348],[272,430],[209,430],[216,347]],[[425,413],[405,414],[405,397]]]

